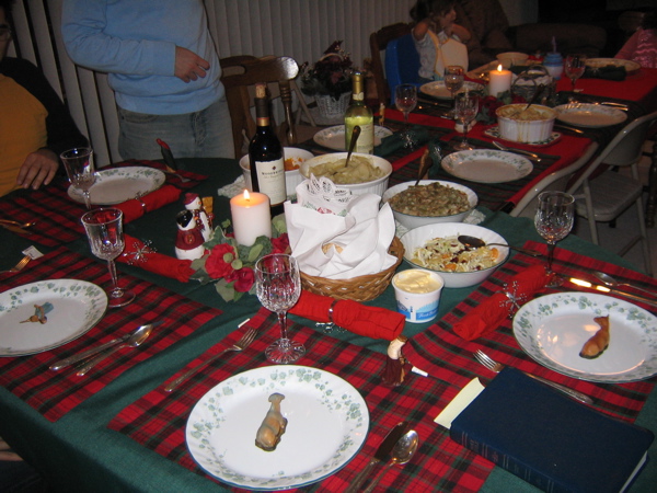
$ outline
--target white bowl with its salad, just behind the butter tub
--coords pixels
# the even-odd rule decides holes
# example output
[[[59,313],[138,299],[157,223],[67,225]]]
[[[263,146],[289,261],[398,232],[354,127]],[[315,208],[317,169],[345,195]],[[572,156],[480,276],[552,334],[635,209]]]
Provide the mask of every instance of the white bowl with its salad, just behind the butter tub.
[[[458,237],[480,238],[486,245],[468,249]],[[507,241],[495,231],[465,222],[439,222],[412,229],[401,238],[404,260],[413,267],[435,271],[445,287],[460,288],[484,282],[509,256],[508,246],[488,246]]]

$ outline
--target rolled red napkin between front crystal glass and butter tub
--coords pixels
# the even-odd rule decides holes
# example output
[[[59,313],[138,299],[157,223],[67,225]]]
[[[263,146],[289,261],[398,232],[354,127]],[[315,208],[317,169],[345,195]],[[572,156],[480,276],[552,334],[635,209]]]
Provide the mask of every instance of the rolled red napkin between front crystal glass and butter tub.
[[[306,290],[289,312],[315,322],[333,322],[358,335],[388,341],[402,333],[406,321],[402,313],[385,308],[367,307],[348,299],[336,300]]]

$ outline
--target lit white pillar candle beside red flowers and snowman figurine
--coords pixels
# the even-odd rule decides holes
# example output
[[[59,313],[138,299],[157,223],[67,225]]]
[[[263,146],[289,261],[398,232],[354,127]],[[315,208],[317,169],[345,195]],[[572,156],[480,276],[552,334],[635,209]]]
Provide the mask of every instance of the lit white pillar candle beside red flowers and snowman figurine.
[[[251,246],[257,237],[272,238],[272,213],[269,197],[257,192],[244,191],[230,199],[233,232],[239,244]]]

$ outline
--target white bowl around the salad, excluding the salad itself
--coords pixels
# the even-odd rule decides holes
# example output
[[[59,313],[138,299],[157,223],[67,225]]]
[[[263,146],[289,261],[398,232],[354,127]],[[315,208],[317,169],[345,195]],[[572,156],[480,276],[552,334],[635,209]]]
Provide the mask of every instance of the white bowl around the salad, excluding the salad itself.
[[[459,234],[468,234],[470,237],[481,238],[488,243],[503,243],[508,244],[507,241],[497,234],[495,231],[475,225],[468,225],[465,222],[438,222],[435,225],[420,226],[419,228],[412,229],[401,238],[402,244],[404,245],[404,260],[408,262],[413,267],[424,268],[431,271],[430,268],[423,267],[411,262],[413,253],[416,249],[424,246],[427,241],[434,238],[446,238],[454,237]],[[509,256],[509,249],[507,246],[495,246],[499,250],[498,262],[488,268],[475,272],[443,272],[435,271],[445,279],[445,287],[448,288],[460,288],[474,286],[484,282],[491,274],[493,274],[497,267],[499,267]]]

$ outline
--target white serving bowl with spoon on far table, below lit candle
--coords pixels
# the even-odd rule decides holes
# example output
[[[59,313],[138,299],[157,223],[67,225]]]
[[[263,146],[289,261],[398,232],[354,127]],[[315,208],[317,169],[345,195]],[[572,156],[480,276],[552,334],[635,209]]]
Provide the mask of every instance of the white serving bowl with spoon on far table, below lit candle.
[[[507,108],[506,111],[519,111],[526,106],[526,103],[507,104],[497,108],[495,114],[497,115],[497,123],[499,124],[499,137],[505,140],[523,144],[539,144],[550,139],[552,136],[552,128],[554,127],[554,119],[556,118],[556,112],[551,107],[540,104],[531,105],[531,107],[540,112],[545,119],[520,121],[503,116],[505,108]]]

